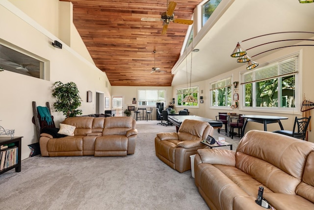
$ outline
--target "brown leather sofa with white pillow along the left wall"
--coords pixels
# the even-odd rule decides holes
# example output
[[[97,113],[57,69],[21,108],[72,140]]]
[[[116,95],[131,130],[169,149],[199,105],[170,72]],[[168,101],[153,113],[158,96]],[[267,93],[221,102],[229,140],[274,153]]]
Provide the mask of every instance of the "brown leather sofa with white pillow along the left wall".
[[[62,123],[76,127],[74,136],[53,138],[41,133],[43,157],[134,154],[137,130],[131,117],[69,117]]]

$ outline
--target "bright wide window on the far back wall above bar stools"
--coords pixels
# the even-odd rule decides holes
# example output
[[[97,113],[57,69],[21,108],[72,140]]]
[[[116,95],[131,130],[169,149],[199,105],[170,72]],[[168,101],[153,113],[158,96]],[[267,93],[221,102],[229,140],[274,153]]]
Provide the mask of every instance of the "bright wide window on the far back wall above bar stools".
[[[138,90],[138,106],[144,105],[154,105],[156,106],[157,102],[163,102],[166,104],[166,90]]]

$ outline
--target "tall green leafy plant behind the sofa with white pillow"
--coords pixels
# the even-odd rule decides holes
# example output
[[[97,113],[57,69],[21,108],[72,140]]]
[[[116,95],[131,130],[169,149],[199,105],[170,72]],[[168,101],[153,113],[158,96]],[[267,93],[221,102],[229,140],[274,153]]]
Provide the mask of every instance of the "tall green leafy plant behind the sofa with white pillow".
[[[76,83],[68,82],[63,84],[56,81],[52,86],[52,96],[56,98],[53,107],[56,111],[63,112],[66,117],[75,117],[82,114],[82,110],[77,109],[81,105],[81,98]]]

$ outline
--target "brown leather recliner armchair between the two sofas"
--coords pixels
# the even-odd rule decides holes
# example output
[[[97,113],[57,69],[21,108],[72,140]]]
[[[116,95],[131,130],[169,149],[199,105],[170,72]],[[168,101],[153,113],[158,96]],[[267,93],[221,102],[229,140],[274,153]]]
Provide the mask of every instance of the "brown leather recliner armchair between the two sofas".
[[[161,132],[155,137],[156,156],[180,173],[191,170],[190,156],[206,145],[200,143],[213,128],[207,122],[186,119],[178,132]]]

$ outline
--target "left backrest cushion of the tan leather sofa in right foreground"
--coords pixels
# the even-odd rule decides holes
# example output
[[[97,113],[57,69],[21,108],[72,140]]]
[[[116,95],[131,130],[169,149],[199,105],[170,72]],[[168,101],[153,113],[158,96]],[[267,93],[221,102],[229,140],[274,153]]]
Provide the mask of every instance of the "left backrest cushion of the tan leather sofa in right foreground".
[[[314,144],[286,135],[249,131],[237,147],[236,167],[273,192],[295,194],[313,149]]]

